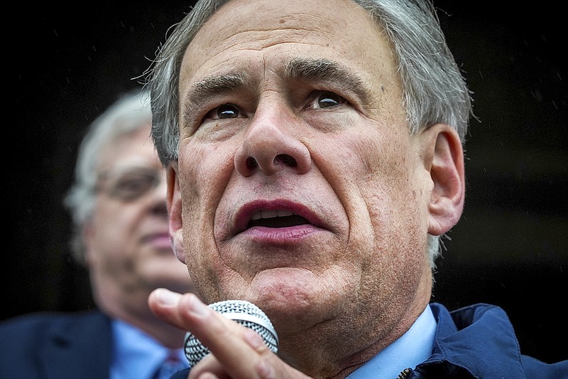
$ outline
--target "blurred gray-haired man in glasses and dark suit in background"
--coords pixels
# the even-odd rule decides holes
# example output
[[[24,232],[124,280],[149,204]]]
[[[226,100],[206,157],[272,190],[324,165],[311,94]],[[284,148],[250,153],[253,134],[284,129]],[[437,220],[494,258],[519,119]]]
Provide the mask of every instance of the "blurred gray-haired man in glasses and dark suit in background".
[[[187,366],[185,332],[148,308],[157,287],[194,291],[172,251],[165,173],[150,132],[145,92],[124,95],[92,123],[65,205],[97,309],[4,321],[1,378],[154,379]]]

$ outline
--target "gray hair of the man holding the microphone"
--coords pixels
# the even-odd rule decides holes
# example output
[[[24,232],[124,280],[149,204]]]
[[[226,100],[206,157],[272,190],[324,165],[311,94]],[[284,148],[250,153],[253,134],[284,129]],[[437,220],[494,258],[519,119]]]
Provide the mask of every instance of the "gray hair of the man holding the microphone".
[[[201,26],[230,0],[199,0],[173,28],[148,70],[153,112],[152,136],[162,164],[178,159],[180,140],[180,66],[187,46]],[[410,132],[449,124],[465,143],[471,109],[469,91],[449,50],[430,0],[353,0],[365,9],[391,40]],[[440,238],[428,235],[430,266],[441,254]]]

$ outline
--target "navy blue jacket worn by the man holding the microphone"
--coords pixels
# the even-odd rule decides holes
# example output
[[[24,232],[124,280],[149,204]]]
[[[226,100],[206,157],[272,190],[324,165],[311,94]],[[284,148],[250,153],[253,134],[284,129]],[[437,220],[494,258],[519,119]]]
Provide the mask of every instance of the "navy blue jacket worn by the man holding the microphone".
[[[521,355],[513,326],[498,306],[476,304],[452,312],[438,303],[430,307],[438,324],[432,356],[404,370],[400,379],[568,379],[568,361],[547,364]],[[185,379],[188,372],[172,379]]]

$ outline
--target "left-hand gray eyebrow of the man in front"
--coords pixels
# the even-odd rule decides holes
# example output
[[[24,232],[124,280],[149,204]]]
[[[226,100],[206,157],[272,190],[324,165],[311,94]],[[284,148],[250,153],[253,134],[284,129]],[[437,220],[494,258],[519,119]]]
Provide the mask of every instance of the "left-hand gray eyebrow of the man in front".
[[[249,80],[243,73],[226,73],[209,75],[195,82],[187,91],[183,102],[183,121],[191,117],[191,113],[200,109],[211,97],[227,92],[241,90],[249,85]]]

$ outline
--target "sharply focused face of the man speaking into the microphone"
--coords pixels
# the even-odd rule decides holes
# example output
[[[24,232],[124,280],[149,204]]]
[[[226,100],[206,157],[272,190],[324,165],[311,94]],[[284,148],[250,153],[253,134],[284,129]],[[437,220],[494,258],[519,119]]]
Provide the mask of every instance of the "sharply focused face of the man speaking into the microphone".
[[[429,297],[432,182],[366,11],[229,1],[185,52],[180,120],[170,230],[205,301],[247,299],[299,333],[388,328]]]

